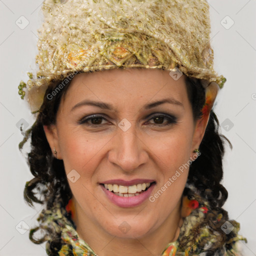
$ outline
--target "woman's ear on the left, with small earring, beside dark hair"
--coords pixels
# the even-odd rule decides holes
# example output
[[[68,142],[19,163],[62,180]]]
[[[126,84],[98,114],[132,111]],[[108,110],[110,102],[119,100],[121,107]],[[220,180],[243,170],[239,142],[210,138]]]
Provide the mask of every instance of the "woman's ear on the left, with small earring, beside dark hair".
[[[43,130],[45,133],[45,136],[47,138],[47,141],[49,143],[49,146],[51,148],[52,154],[57,159],[62,159],[61,153],[60,153],[60,147],[58,144],[58,136],[57,136],[57,128],[56,125],[43,125]],[[54,147],[56,154],[54,153]]]

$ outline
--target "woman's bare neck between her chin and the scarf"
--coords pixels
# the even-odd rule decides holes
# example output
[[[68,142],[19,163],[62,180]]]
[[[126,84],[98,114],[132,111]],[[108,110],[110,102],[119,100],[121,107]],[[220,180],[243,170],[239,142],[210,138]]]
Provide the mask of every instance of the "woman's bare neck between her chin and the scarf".
[[[98,256],[159,256],[169,242],[178,238],[183,222],[180,199],[171,214],[153,232],[147,232],[142,237],[123,238],[113,236],[93,223],[82,214],[75,200],[74,205],[76,232]]]

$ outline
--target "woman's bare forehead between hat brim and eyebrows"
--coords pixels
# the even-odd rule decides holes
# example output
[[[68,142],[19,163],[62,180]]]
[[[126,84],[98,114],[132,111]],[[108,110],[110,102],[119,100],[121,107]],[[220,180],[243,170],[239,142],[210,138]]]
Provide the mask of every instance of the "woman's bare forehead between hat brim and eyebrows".
[[[85,98],[126,104],[172,96],[187,99],[185,76],[175,80],[168,70],[150,68],[115,68],[79,73],[72,79],[65,95],[68,104]]]

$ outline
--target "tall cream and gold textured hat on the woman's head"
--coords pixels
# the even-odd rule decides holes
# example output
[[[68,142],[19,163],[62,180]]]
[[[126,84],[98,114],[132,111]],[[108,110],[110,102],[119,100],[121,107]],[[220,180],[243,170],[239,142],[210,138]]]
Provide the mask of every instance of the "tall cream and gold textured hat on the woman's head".
[[[222,87],[213,69],[206,0],[44,0],[36,74],[19,95],[40,108],[52,81],[118,67],[178,70]],[[26,91],[24,91],[24,89]]]

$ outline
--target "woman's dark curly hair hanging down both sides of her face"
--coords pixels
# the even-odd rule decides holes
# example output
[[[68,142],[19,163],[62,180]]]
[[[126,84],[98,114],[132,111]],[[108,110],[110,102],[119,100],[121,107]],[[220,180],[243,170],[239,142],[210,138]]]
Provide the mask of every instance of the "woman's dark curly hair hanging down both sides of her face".
[[[53,207],[56,202],[60,203],[61,207],[64,208],[72,197],[63,160],[57,159],[52,155],[43,130],[43,125],[56,123],[56,114],[60,100],[65,95],[70,81],[52,99],[49,100],[46,95],[51,93],[61,82],[62,80],[51,81],[46,89],[43,103],[35,122],[31,128],[26,130],[23,140],[19,143],[21,150],[28,137],[31,138],[31,149],[27,154],[27,162],[34,178],[25,184],[24,199],[30,206],[33,206],[33,202],[46,203],[46,209]],[[202,116],[201,109],[205,103],[205,89],[201,85],[200,79],[194,77],[185,76],[185,84],[188,99],[192,106],[193,118],[196,120]],[[208,200],[209,205],[213,208],[213,212],[216,214],[221,213],[223,218],[227,220],[228,213],[221,208],[227,198],[227,190],[220,184],[220,181],[223,176],[222,157],[224,154],[224,142],[227,141],[231,148],[232,146],[225,136],[218,133],[218,129],[218,119],[211,109],[206,130],[199,146],[201,155],[190,164],[187,183],[193,184],[200,192],[200,195]],[[33,191],[34,189],[38,190],[37,193]],[[37,198],[36,194],[41,195],[42,199]],[[184,188],[183,194],[191,195],[188,187]],[[220,224],[216,224],[216,221],[213,221],[213,217],[216,214],[208,213],[206,213],[204,221],[207,222],[211,230],[219,229]],[[66,216],[73,223],[71,214],[67,213]],[[33,233],[36,230],[38,230],[38,227],[30,229],[29,239],[34,243],[42,243],[45,241],[44,237],[37,240],[33,238]],[[60,233],[49,233],[48,235],[52,236],[52,239],[48,242],[49,248],[52,251],[51,255],[53,255],[53,252],[56,252],[56,249],[61,247]],[[219,235],[218,241],[214,244],[216,248],[223,246],[225,241],[235,236],[233,232],[229,234],[220,232]],[[206,255],[213,255],[212,251],[207,253]]]

